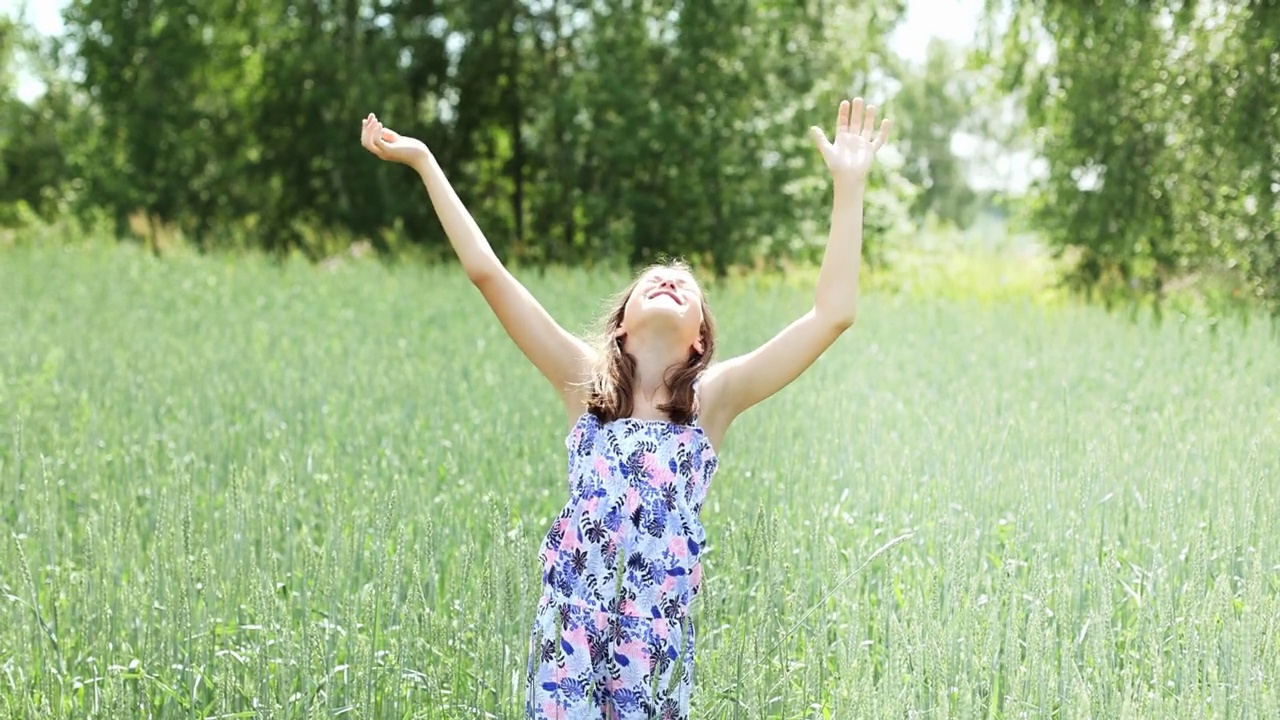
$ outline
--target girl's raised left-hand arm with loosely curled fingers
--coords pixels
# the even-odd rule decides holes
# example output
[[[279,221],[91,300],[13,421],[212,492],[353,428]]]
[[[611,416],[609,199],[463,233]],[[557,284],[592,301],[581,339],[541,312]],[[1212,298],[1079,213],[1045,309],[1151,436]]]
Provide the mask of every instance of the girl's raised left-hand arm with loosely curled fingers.
[[[585,406],[581,382],[590,370],[594,350],[562,328],[507,270],[426,145],[383,127],[372,114],[364,120],[361,145],[384,160],[417,170],[467,278],[521,352],[561,395],[566,411],[572,416],[581,413]]]

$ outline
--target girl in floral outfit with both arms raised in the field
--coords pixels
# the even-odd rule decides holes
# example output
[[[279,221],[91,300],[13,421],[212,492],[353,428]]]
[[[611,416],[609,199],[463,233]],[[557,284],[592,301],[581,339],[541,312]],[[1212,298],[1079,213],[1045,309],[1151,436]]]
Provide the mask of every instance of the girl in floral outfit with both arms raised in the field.
[[[686,720],[690,602],[701,584],[703,500],[724,432],[809,368],[858,309],[863,195],[890,120],[842,101],[835,142],[810,128],[835,202],[813,309],[746,355],[712,364],[716,324],[689,268],[641,273],[596,347],[566,332],[494,255],[428,147],[370,114],[361,143],[422,178],[467,277],[567,413],[564,510],[541,544],[525,716]]]

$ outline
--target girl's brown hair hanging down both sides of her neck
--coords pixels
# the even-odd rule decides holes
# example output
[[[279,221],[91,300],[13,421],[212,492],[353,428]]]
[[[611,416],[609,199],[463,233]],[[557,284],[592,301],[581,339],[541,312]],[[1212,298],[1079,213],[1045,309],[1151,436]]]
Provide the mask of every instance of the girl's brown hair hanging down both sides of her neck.
[[[611,302],[612,309],[602,319],[600,336],[598,341],[599,363],[590,380],[590,393],[586,409],[600,421],[608,423],[618,418],[630,418],[635,400],[636,359],[622,350],[623,338],[617,337],[617,331],[622,325],[622,316],[627,310],[627,301],[635,292],[640,279],[646,273],[659,268],[678,269],[692,274],[685,263],[678,260],[654,264],[645,268],[631,281],[621,293]],[[664,382],[667,384],[668,402],[658,406],[671,418],[673,423],[687,425],[692,423],[698,414],[696,397],[694,396],[694,383],[701,375],[716,354],[716,318],[707,305],[707,297],[701,297],[703,325],[699,329],[703,341],[701,352],[691,352],[685,364],[667,372]]]

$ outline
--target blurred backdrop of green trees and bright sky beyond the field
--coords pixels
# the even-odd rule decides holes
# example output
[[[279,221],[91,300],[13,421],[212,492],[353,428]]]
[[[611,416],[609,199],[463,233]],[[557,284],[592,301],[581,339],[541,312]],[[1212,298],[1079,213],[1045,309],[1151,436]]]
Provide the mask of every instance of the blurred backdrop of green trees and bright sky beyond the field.
[[[509,263],[804,266],[854,95],[872,268],[1276,306],[1274,0],[0,0],[0,245],[447,258],[374,111]]]

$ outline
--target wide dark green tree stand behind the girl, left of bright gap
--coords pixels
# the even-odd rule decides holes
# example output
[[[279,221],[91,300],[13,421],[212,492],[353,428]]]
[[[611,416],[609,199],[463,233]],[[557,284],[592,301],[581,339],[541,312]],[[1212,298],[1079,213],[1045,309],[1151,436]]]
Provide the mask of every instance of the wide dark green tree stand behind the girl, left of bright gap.
[[[72,0],[58,56],[73,82],[47,101],[77,109],[77,137],[61,181],[40,182],[122,232],[145,214],[204,247],[324,255],[360,237],[447,255],[412,176],[357,142],[376,111],[428,142],[504,258],[726,270],[820,247],[806,129],[867,91],[902,9]],[[886,174],[869,246],[906,196]]]

